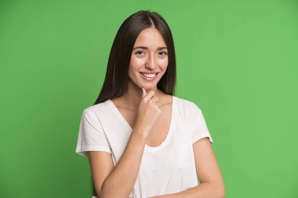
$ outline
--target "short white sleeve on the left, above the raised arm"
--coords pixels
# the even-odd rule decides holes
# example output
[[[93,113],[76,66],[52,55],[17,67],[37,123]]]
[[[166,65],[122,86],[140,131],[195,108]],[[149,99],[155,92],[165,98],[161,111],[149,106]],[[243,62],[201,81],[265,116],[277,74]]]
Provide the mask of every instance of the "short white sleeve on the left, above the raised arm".
[[[83,111],[75,152],[87,156],[87,151],[105,151],[111,153],[111,147],[99,122]]]

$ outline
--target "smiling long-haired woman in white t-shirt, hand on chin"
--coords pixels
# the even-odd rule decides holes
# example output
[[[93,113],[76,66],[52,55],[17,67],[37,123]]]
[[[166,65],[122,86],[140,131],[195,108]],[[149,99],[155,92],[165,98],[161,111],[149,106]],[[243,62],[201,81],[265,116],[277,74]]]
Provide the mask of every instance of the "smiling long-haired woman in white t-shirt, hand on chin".
[[[165,20],[149,11],[128,17],[111,48],[99,97],[80,122],[76,153],[88,157],[93,195],[224,198],[202,111],[173,96],[175,79]]]

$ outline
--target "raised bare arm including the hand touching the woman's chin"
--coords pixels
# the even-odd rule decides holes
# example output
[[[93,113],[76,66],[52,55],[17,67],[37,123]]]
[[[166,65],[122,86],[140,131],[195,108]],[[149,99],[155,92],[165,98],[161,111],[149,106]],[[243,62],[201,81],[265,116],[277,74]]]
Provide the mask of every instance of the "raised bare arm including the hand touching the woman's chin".
[[[91,175],[99,198],[128,198],[136,183],[148,134],[161,114],[161,104],[154,97],[154,92],[147,94],[144,88],[142,90],[135,127],[116,166],[113,167],[110,153],[88,152]]]

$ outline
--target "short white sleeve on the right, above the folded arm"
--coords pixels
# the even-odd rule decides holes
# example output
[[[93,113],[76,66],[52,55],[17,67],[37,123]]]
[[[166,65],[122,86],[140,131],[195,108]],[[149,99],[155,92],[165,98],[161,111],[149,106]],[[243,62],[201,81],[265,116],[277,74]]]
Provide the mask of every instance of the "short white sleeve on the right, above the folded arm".
[[[205,118],[203,116],[202,110],[195,103],[193,103],[191,111],[192,111],[192,113],[191,113],[192,144],[196,143],[198,140],[200,140],[202,138],[208,137],[209,141],[211,142],[211,145],[213,145],[213,140],[209,133],[209,130],[208,130]]]

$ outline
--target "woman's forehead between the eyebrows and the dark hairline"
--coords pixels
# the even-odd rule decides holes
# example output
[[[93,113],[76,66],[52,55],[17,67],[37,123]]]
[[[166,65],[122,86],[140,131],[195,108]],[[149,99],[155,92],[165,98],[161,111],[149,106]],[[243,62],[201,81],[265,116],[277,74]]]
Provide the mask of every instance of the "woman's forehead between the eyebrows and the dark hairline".
[[[138,36],[136,46],[146,46],[146,47],[165,47],[165,42],[162,35],[156,28],[144,29]]]

